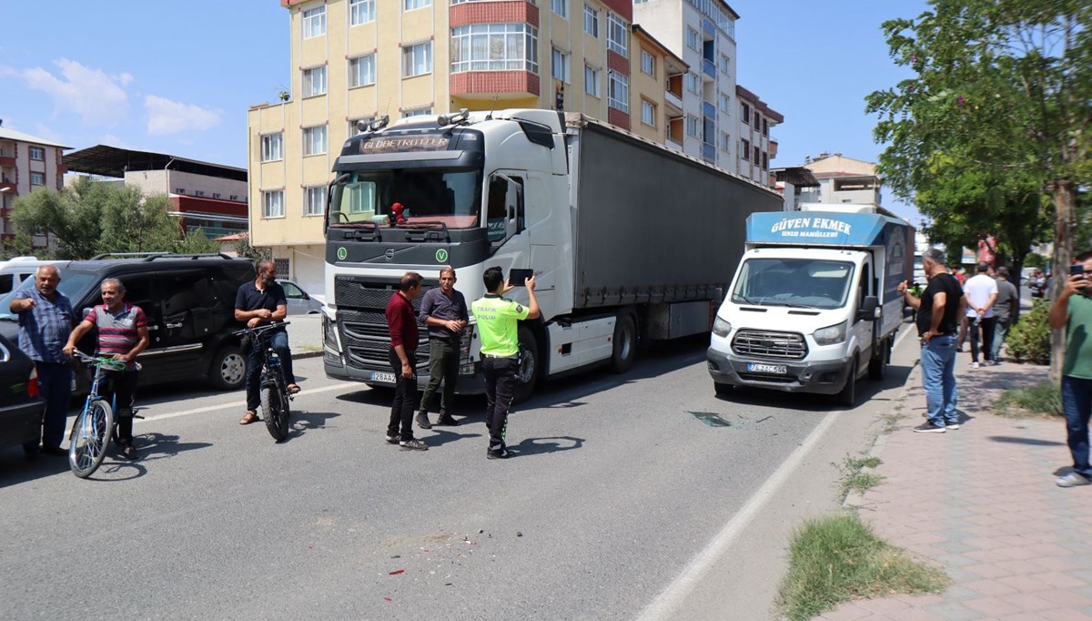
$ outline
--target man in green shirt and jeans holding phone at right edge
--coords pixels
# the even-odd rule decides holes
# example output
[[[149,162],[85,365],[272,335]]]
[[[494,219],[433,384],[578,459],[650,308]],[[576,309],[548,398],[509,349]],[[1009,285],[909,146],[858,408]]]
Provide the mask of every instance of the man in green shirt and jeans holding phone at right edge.
[[[1089,415],[1092,414],[1092,253],[1077,258],[1069,280],[1051,307],[1051,328],[1066,328],[1066,359],[1061,363],[1061,411],[1073,471],[1056,481],[1059,488],[1092,483],[1089,465]]]

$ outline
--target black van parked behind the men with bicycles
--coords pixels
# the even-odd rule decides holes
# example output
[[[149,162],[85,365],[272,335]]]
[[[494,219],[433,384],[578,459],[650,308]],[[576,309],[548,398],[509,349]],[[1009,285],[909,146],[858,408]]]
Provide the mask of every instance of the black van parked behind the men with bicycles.
[[[147,316],[151,342],[136,358],[143,367],[141,386],[194,377],[206,377],[224,390],[242,386],[246,360],[232,332],[245,327],[235,320],[235,295],[242,283],[256,278],[251,261],[227,255],[162,253],[106,257],[55,263],[61,274],[58,289],[72,301],[79,321],[86,308],[103,303],[104,279],[116,278],[124,284],[126,302],[140,306]],[[34,280],[20,289],[24,286],[34,286]],[[0,300],[0,335],[15,340],[19,318],[9,310],[13,295]],[[85,336],[80,349],[93,351],[94,339],[93,333]]]

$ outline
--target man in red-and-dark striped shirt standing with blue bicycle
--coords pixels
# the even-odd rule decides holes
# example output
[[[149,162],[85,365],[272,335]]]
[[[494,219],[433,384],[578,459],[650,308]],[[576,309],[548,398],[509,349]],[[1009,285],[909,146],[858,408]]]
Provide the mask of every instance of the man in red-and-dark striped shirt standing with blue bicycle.
[[[95,306],[72,330],[64,353],[72,355],[80,339],[90,330],[97,330],[97,355],[110,356],[126,363],[124,371],[106,372],[103,397],[117,410],[118,443],[127,459],[136,458],[133,448],[133,392],[136,390],[136,354],[147,347],[147,319],[140,306],[124,301],[126,286],[116,278],[103,281],[103,304]]]

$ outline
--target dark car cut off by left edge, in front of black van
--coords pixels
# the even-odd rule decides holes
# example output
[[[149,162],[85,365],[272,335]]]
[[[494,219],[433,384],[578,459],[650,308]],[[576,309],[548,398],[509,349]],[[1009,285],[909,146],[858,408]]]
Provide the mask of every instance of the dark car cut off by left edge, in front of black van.
[[[41,412],[34,362],[0,337],[0,449],[38,442]]]

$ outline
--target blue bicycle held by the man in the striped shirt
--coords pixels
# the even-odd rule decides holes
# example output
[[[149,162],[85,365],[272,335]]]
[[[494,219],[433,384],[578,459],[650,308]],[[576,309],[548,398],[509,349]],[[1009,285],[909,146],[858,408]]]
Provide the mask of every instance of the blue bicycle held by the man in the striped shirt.
[[[74,351],[73,355],[95,367],[87,398],[83,402],[83,409],[76,414],[69,434],[69,467],[73,474],[86,479],[103,462],[106,452],[110,448],[110,442],[117,442],[118,438],[117,421],[114,417],[117,396],[108,403],[98,394],[99,384],[105,376],[104,370],[124,371],[126,363],[112,358],[87,355],[80,350]],[[135,413],[133,415],[141,418]]]

